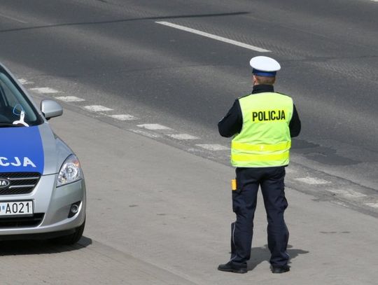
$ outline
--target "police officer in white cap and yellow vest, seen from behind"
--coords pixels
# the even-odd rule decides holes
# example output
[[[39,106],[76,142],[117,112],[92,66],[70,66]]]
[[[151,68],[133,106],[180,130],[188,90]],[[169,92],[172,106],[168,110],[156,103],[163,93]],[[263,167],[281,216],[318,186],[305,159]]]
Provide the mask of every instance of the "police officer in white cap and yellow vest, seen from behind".
[[[253,91],[235,100],[230,111],[218,123],[222,137],[232,137],[231,163],[236,168],[236,186],[232,189],[232,210],[236,221],[231,230],[231,259],[218,270],[246,273],[251,257],[253,217],[258,187],[267,212],[267,241],[273,273],[290,270],[288,266],[288,228],[283,212],[288,203],[283,179],[289,163],[291,137],[300,133],[300,119],[293,100],[274,92],[276,71],[281,66],[270,57],[250,61]]]

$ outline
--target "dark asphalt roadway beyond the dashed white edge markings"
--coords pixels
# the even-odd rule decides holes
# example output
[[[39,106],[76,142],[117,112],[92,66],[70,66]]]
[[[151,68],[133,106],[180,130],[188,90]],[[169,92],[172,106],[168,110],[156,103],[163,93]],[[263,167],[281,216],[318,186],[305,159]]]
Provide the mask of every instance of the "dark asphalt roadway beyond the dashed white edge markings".
[[[265,53],[156,22],[265,48],[283,67],[276,90],[302,118],[293,162],[376,190],[377,10],[368,0],[1,1],[0,60],[39,86],[227,145],[216,123],[250,92],[248,60]]]

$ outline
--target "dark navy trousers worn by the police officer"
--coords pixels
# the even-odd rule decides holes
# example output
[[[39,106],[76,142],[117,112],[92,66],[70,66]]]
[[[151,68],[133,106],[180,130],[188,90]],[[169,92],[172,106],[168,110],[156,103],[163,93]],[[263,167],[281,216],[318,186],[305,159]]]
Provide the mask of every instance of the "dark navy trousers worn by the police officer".
[[[232,191],[232,210],[237,219],[231,225],[231,260],[235,265],[246,265],[251,258],[253,218],[260,186],[267,212],[267,244],[274,266],[288,263],[288,228],[283,212],[288,207],[285,198],[285,167],[238,167],[237,190]]]

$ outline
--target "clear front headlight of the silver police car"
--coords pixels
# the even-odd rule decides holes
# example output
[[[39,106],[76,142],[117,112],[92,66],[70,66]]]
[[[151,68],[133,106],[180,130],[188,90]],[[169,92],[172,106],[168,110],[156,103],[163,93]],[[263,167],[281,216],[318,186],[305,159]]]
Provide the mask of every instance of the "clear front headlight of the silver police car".
[[[60,167],[57,178],[57,187],[80,179],[83,179],[80,162],[78,161],[78,158],[76,158],[76,155],[69,155],[69,157],[63,162],[62,167]]]

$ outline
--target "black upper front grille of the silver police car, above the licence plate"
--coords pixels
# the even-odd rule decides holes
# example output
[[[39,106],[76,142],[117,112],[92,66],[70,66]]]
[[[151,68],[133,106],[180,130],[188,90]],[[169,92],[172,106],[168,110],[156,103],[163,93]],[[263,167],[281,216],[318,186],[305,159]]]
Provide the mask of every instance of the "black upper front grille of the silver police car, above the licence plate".
[[[41,174],[38,172],[0,173],[0,178],[10,182],[6,188],[0,188],[0,195],[15,195],[30,193],[36,187]]]

